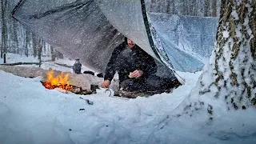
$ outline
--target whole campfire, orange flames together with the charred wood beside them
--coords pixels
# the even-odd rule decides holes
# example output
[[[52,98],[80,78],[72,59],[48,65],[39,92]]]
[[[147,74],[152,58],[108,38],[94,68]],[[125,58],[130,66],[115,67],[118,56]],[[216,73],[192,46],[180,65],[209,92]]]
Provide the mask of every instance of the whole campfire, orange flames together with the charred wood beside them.
[[[63,72],[57,76],[54,76],[54,70],[50,70],[47,72],[46,81],[42,82],[42,85],[46,87],[46,89],[57,89],[61,92],[72,92],[74,94],[92,94],[94,90],[82,90],[82,87],[72,86],[69,82],[69,74],[64,74]],[[96,90],[95,90],[96,92]]]

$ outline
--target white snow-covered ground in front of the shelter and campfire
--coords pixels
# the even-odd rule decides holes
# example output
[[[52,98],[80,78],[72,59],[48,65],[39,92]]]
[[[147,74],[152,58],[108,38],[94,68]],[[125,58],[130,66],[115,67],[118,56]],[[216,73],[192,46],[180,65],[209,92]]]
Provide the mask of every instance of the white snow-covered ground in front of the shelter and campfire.
[[[45,69],[52,66],[70,70],[52,62],[42,65]],[[86,96],[63,94],[46,90],[41,78],[0,71],[0,143],[256,143],[255,110],[228,111],[211,124],[206,114],[172,116],[200,74],[180,73],[186,84],[172,94],[128,99],[109,97],[110,91],[103,89]]]

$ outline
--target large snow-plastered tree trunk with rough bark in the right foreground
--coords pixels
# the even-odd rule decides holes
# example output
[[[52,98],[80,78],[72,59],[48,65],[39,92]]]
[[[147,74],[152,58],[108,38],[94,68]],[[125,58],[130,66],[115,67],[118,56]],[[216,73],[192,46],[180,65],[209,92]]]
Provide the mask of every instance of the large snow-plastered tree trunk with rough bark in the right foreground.
[[[255,11],[256,0],[222,1],[214,54],[190,94],[190,100],[200,96],[201,105],[197,106],[207,106],[210,119],[218,113],[219,109],[214,111],[216,107],[222,106],[223,110],[256,107]],[[195,105],[190,102],[186,114],[198,110]]]

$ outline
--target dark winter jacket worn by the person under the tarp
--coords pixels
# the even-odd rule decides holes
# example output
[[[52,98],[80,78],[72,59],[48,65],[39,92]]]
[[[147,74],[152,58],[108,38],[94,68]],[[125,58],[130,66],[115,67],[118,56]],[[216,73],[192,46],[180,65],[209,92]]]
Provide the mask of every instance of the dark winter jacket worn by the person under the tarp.
[[[142,70],[143,75],[135,80],[143,82],[149,75],[156,73],[157,65],[149,54],[140,47],[135,45],[131,50],[127,47],[126,42],[116,47],[106,66],[104,80],[111,80],[118,71],[119,82],[129,79],[130,72],[134,70]]]

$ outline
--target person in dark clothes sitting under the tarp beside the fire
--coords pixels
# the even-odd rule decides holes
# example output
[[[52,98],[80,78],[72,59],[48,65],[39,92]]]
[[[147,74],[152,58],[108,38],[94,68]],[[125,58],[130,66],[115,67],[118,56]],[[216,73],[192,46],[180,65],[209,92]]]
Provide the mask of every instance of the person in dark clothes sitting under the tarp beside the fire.
[[[126,91],[167,90],[181,85],[177,78],[158,77],[155,75],[157,69],[154,58],[126,38],[125,42],[114,49],[101,86],[109,88],[116,71],[119,88]]]

